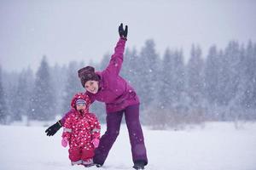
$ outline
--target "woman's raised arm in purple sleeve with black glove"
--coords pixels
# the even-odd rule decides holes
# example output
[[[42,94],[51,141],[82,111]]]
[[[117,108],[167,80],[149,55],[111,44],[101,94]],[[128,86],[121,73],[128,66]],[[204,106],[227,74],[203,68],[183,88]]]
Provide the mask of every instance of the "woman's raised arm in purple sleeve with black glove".
[[[119,41],[117,42],[114,53],[111,56],[110,62],[104,72],[111,74],[113,76],[118,76],[121,70],[124,52],[125,52],[125,42],[127,40],[128,26],[123,28],[123,24],[119,26]]]

